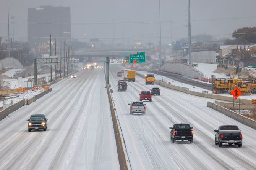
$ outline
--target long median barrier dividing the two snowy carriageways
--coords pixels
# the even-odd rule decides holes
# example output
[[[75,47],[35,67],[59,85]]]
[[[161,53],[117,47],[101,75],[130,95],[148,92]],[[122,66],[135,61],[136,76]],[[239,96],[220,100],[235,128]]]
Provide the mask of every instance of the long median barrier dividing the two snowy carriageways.
[[[109,97],[109,105],[110,105],[111,117],[113,121],[113,128],[115,133],[115,141],[117,146],[117,154],[118,154],[120,170],[131,170],[131,164],[130,164],[129,156],[127,153],[125,140],[123,138],[122,128],[120,126],[120,122],[118,120],[118,116],[115,110],[115,103],[111,95],[110,86],[107,85],[106,87],[107,87],[107,94]]]

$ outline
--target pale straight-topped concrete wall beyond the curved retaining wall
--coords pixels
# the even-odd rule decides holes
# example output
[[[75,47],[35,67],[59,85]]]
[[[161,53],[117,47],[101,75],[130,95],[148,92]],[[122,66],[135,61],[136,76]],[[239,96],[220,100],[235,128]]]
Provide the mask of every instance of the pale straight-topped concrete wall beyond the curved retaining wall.
[[[182,59],[188,59],[189,61],[189,55],[186,55]],[[191,52],[191,60],[192,62],[215,63],[216,52],[215,51]]]

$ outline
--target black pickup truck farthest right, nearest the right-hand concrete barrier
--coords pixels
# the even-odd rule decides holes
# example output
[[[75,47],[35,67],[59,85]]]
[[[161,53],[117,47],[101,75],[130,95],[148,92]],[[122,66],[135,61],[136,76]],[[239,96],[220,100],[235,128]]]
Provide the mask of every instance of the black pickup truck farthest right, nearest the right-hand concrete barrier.
[[[222,146],[223,143],[228,145],[238,145],[242,147],[243,136],[241,130],[235,125],[222,125],[218,130],[214,130],[215,134],[215,145]]]

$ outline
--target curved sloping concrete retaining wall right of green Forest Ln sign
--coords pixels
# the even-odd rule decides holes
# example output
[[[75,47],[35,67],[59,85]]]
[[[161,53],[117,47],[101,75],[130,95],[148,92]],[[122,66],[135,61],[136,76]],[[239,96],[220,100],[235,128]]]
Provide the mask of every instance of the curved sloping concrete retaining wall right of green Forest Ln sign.
[[[191,78],[194,78],[195,76],[198,76],[199,79],[201,77],[204,78],[203,74],[200,71],[191,68],[188,65],[180,63],[166,63],[161,67],[161,70],[167,72],[181,72],[181,75],[189,76]]]

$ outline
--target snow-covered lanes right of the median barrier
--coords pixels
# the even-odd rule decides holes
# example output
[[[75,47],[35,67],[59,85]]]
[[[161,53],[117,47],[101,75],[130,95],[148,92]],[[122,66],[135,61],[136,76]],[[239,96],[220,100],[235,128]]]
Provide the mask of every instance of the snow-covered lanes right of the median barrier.
[[[159,85],[145,85],[144,79],[128,82],[126,92],[117,92],[117,71],[121,66],[110,65],[113,99],[122,127],[131,167],[144,170],[166,169],[256,169],[256,130],[235,121],[211,108],[207,101]],[[138,93],[152,87],[161,89],[160,96],[145,102],[146,115],[130,115],[128,103],[139,100]],[[170,126],[189,123],[194,127],[194,143],[170,142]],[[238,125],[243,134],[243,147],[219,148],[215,132],[220,125]]]

